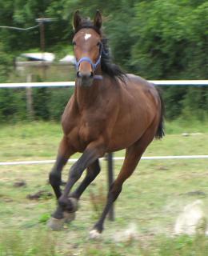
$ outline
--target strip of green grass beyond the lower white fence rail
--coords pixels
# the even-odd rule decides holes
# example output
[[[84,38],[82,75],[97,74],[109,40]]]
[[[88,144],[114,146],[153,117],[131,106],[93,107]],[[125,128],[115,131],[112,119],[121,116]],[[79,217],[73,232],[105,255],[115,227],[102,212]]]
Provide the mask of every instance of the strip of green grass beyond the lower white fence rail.
[[[206,154],[208,152],[208,124],[190,126],[190,123],[167,122],[166,137],[154,141],[145,155]],[[182,136],[183,133],[204,133],[195,136]],[[54,159],[58,143],[62,138],[60,124],[53,122],[32,122],[3,125],[0,130],[0,159],[4,161]],[[179,145],[180,144],[180,145]],[[123,151],[117,152],[123,155]]]

